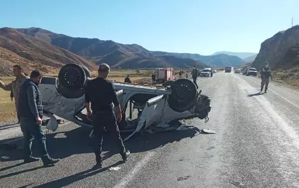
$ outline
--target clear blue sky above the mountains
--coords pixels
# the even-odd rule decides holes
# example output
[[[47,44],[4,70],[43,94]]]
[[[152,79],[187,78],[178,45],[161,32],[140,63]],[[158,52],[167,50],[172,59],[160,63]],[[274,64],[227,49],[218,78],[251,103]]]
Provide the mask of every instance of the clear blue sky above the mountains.
[[[299,0],[2,0],[0,27],[41,27],[73,37],[210,55],[259,52],[299,24]]]

